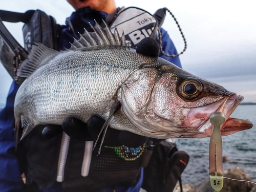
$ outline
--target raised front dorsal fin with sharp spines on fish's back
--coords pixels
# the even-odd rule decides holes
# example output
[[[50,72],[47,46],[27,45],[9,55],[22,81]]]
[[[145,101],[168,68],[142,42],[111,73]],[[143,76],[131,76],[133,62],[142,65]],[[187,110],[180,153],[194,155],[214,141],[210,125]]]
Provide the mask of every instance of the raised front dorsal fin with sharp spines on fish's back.
[[[92,26],[90,23],[91,28],[94,32],[88,32],[84,29],[84,33],[81,35],[80,38],[77,40],[74,38],[73,44],[71,44],[71,48],[67,50],[75,50],[81,47],[92,47],[92,46],[100,46],[100,45],[118,45],[129,47],[129,43],[126,44],[125,36],[122,34],[118,34],[117,29],[115,29],[114,33],[111,32],[110,28],[104,20],[102,19],[105,27],[102,28],[97,22],[95,21],[95,26]]]

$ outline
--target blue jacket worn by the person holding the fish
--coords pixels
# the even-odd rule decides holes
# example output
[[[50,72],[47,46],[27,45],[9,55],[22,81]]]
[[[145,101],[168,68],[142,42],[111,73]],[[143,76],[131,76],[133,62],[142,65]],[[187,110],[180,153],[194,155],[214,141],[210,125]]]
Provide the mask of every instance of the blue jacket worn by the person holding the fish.
[[[93,15],[93,16],[92,16]],[[101,22],[101,18],[105,18],[107,16],[104,12],[96,12],[93,10],[87,10],[84,11],[82,9],[77,10],[76,12],[73,12],[70,19],[72,21],[73,27],[75,31],[78,31],[80,33],[83,32],[83,27],[85,25],[85,28],[87,30],[90,30],[88,22],[94,23],[93,19],[96,18],[97,22]],[[84,25],[81,25],[83,23]],[[81,27],[82,26],[82,27]],[[162,47],[165,53],[167,54],[177,54],[176,48],[172,42],[172,40],[169,38],[169,35],[165,30],[161,28],[161,34],[162,34]],[[69,25],[67,23],[67,26],[63,26],[60,32],[59,37],[59,46],[61,49],[68,48],[69,42],[73,41],[74,33],[69,29]],[[159,54],[160,57],[169,60],[170,62],[173,62],[178,67],[181,67],[181,63],[179,60],[179,57],[166,57]],[[19,157],[22,156],[22,154],[16,154],[15,148],[14,148],[14,128],[13,128],[13,122],[14,122],[14,114],[13,114],[13,104],[14,104],[14,98],[15,94],[18,90],[19,86],[15,82],[12,83],[12,86],[10,88],[6,106],[5,108],[0,112],[0,192],[20,192],[23,191],[24,184],[20,177],[21,173],[23,173],[23,170],[20,168],[20,161]],[[116,191],[117,192],[138,192],[140,190],[140,186],[142,184],[143,180],[143,169],[141,170],[141,174],[138,178],[138,182],[136,185],[131,186],[129,188],[123,187],[123,186],[117,186]],[[51,188],[47,190],[41,190],[43,192],[51,192],[51,191],[61,191],[61,183],[55,183]],[[105,188],[102,190],[99,190],[99,192],[109,192],[111,191],[110,188]]]

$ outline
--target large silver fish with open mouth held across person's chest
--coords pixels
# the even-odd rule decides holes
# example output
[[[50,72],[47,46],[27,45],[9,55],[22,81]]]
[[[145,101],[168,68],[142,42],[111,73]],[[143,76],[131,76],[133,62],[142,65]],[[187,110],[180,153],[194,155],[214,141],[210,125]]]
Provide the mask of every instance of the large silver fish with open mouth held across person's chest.
[[[70,50],[37,44],[18,75],[27,77],[14,104],[26,136],[38,124],[83,122],[93,115],[110,127],[153,138],[203,138],[211,135],[212,112],[223,112],[222,135],[249,129],[249,120],[229,118],[243,96],[190,74],[160,57],[149,57],[125,44],[117,31],[98,24],[80,35]],[[121,108],[113,112],[117,101]]]

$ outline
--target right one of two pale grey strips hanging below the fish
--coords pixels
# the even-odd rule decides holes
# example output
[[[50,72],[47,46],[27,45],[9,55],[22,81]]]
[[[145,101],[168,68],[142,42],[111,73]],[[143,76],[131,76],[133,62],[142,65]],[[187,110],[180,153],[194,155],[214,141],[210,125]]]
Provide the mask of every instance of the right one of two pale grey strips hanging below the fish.
[[[81,169],[81,175],[83,177],[86,177],[89,174],[91,159],[92,159],[92,152],[93,152],[93,141],[86,141],[86,144],[84,146],[84,154],[83,154],[82,169]]]

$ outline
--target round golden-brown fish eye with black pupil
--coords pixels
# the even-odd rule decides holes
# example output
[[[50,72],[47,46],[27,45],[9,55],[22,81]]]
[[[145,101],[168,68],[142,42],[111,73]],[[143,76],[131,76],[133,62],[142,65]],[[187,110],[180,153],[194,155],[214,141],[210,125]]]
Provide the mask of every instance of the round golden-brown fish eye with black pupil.
[[[179,93],[183,99],[192,100],[197,98],[203,90],[202,83],[194,78],[188,78],[183,80],[179,86]]]

